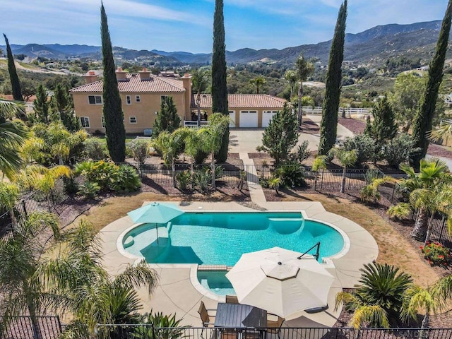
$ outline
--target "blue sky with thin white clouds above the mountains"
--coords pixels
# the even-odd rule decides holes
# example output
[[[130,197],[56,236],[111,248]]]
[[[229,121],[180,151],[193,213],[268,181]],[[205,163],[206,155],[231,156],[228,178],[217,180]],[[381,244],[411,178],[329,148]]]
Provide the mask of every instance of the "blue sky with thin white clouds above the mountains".
[[[342,0],[224,0],[226,49],[330,40]],[[349,0],[347,32],[443,18],[447,0]],[[100,45],[100,1],[1,0],[11,44]],[[210,52],[214,0],[104,0],[115,46]],[[4,44],[4,42],[0,42]]]

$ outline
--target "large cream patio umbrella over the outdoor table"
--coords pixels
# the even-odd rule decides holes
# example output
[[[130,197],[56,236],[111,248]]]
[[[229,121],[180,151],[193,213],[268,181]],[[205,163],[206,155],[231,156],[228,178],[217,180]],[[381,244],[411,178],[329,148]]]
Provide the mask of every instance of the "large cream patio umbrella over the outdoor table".
[[[226,274],[241,304],[283,318],[324,307],[334,277],[313,256],[273,247],[243,254]]]

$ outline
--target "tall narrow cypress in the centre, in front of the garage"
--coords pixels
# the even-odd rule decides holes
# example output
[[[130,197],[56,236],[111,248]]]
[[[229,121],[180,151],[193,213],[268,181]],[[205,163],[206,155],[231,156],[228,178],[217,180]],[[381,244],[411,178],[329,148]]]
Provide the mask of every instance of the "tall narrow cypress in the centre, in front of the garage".
[[[215,0],[213,15],[213,54],[212,54],[212,112],[229,116],[226,85],[226,45],[225,22],[223,18],[223,0]],[[215,155],[219,162],[227,159],[229,145],[229,127],[222,138],[222,145]]]

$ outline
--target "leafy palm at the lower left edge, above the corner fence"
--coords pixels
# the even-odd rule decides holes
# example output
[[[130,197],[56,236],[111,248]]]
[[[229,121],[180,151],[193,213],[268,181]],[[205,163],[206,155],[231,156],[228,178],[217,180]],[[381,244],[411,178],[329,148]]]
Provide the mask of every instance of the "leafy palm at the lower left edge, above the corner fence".
[[[36,237],[49,227],[59,235],[57,215],[30,213],[13,230],[13,237],[0,239],[0,292],[3,325],[11,316],[30,315],[33,338],[42,338],[37,316],[52,299],[40,281],[37,271],[44,247]]]

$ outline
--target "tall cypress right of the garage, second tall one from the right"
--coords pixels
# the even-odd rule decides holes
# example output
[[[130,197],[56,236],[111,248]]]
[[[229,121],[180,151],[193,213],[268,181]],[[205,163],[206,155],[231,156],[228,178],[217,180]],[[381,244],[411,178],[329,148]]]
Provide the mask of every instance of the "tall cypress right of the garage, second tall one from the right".
[[[320,126],[319,155],[327,155],[336,141],[346,20],[347,0],[340,5],[333,42],[331,42],[330,59],[328,61],[328,71],[326,73],[325,100],[323,100],[322,121]]]

